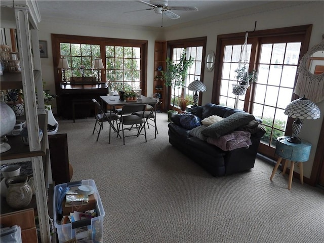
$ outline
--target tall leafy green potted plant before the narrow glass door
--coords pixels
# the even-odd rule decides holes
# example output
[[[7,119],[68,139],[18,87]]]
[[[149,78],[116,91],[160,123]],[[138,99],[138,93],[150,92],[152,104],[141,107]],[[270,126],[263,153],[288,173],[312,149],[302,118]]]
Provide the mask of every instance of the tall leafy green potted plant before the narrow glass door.
[[[184,49],[178,63],[175,63],[170,58],[167,58],[167,70],[161,71],[165,80],[165,86],[173,87],[174,94],[176,93],[176,89],[184,87],[188,68],[190,68],[193,64],[193,57],[190,56],[188,59],[186,59],[186,53],[187,50]],[[173,97],[172,105],[173,107],[175,106],[175,96]],[[170,121],[172,113],[174,113],[174,110],[168,111],[168,121]]]

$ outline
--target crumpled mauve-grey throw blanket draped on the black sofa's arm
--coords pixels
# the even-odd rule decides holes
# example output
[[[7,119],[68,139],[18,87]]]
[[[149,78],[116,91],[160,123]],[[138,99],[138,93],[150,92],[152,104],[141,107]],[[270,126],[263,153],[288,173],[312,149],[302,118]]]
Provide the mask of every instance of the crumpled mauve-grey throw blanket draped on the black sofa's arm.
[[[250,137],[251,133],[249,132],[234,131],[219,138],[208,137],[207,142],[228,151],[236,148],[249,148],[252,144]]]

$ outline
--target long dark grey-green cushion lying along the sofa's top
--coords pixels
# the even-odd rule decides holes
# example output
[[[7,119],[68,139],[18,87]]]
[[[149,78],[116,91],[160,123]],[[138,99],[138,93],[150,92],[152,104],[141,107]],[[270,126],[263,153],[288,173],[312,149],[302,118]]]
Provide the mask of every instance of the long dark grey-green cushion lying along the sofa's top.
[[[247,112],[236,112],[226,118],[208,126],[202,132],[207,137],[219,138],[222,135],[228,134],[237,128],[250,123],[254,120],[254,116]]]

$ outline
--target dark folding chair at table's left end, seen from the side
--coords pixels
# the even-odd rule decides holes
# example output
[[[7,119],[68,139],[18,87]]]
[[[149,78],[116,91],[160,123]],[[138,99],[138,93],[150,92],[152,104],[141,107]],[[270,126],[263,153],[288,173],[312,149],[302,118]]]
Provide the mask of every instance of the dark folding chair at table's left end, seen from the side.
[[[105,112],[104,109],[102,108],[102,106],[100,105],[100,103],[96,99],[92,99],[92,101],[96,104],[96,107],[98,109],[98,113],[95,116],[96,123],[95,123],[95,127],[93,129],[92,134],[94,134],[95,131],[98,132],[98,136],[97,136],[97,141],[98,141],[100,132],[103,129],[103,123],[105,121],[107,121],[108,124],[109,124],[109,143],[110,143],[111,128],[113,129],[114,132],[117,133],[117,137],[118,136],[120,137],[120,135],[118,133],[118,130],[114,127],[114,123],[115,123],[115,121],[118,120],[119,117],[114,112],[110,112],[110,111],[109,112]],[[99,129],[96,128],[97,124],[99,125]]]

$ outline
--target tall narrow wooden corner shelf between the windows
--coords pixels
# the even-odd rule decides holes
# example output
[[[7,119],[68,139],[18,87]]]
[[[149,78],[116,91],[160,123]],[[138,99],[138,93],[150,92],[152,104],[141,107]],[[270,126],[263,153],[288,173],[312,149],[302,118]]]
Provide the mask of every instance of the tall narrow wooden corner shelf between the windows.
[[[161,77],[161,70],[166,70],[166,58],[167,58],[167,43],[155,41],[154,44],[154,82],[153,82],[153,94],[159,94],[159,103],[156,106],[157,110],[166,111],[166,86]],[[161,69],[159,70],[159,67]]]

